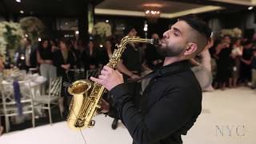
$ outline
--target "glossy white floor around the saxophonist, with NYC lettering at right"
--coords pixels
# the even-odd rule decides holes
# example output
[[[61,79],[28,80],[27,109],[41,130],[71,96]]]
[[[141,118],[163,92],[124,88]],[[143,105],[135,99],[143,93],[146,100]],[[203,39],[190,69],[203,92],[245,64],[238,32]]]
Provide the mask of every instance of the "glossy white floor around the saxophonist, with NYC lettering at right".
[[[256,90],[245,87],[230,90],[215,90],[203,93],[203,110],[198,121],[183,137],[185,144],[255,144],[256,143]],[[37,126],[26,130],[14,131],[0,137],[0,143],[26,144],[131,144],[132,139],[126,128],[119,125],[112,130],[112,118],[98,115],[96,126],[72,131],[66,122],[54,125]]]

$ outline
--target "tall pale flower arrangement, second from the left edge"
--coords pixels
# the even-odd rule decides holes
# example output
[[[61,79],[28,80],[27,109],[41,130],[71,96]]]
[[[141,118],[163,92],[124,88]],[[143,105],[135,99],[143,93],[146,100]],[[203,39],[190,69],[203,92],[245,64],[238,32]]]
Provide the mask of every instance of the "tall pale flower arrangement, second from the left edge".
[[[38,38],[42,37],[42,32],[45,29],[42,21],[35,17],[26,17],[20,20],[22,30],[24,30],[26,37],[30,38],[32,43],[38,42]]]

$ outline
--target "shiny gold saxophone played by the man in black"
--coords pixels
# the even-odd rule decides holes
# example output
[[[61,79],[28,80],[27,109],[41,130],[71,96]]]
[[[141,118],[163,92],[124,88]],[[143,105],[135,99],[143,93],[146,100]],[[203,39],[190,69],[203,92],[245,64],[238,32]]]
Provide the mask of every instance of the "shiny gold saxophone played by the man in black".
[[[122,38],[120,44],[116,45],[110,61],[106,66],[115,69],[118,62],[121,61],[122,53],[126,49],[126,44],[130,42],[144,42],[158,45],[158,39],[146,39],[138,37],[126,36]],[[92,89],[90,89],[92,87]],[[70,102],[69,115],[67,117],[68,126],[74,130],[93,127],[95,121],[92,119],[97,110],[101,108],[102,94],[106,89],[96,82],[92,83],[88,80],[78,80],[68,87],[68,93],[73,95]],[[89,95],[88,95],[89,94]]]

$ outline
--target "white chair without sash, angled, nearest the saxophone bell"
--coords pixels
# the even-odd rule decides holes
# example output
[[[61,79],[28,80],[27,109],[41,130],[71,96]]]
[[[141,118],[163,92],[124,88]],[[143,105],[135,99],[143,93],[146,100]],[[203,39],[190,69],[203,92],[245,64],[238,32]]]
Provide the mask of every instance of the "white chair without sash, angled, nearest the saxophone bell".
[[[52,124],[51,109],[58,106],[58,100],[62,90],[62,77],[50,78],[48,94],[37,95],[34,98],[34,106],[38,109],[48,110],[50,124]],[[40,105],[40,106],[39,106]]]

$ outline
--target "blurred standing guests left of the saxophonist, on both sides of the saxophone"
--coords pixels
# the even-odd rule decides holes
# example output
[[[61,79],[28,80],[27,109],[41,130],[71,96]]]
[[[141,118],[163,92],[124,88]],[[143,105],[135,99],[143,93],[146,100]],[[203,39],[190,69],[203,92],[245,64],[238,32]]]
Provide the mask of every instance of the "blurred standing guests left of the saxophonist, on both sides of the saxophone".
[[[127,26],[124,34],[136,36],[137,31],[134,27]],[[152,34],[152,38],[159,38],[158,34]],[[39,42],[38,46],[32,46],[30,39],[25,38],[22,47],[15,54],[15,65],[21,70],[38,68],[38,72],[48,81],[50,78],[62,77],[63,82],[69,82],[70,78],[66,74],[67,70],[101,69],[109,62],[109,58],[111,58],[114,51],[114,43],[119,42],[120,40],[110,38],[106,40],[103,46],[100,46],[94,39],[82,42],[81,40],[66,38],[61,38],[58,41],[45,38]],[[162,62],[163,59],[158,55],[155,46],[130,43],[122,54],[122,61],[118,64],[118,70],[122,72],[126,82],[128,82],[141,78],[142,72],[147,71],[147,74],[157,69],[162,66]],[[138,82],[130,84],[130,89],[134,93],[139,93],[140,87]],[[64,87],[61,95],[60,108],[62,114],[64,114],[68,111],[69,106]],[[116,126],[117,121],[115,120],[113,128],[115,129]]]

